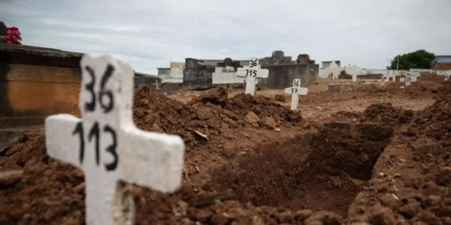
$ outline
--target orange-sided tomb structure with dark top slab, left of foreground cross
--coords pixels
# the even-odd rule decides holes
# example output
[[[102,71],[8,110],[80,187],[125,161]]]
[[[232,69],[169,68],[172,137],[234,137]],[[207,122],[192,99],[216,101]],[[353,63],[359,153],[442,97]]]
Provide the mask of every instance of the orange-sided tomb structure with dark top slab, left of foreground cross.
[[[42,124],[49,114],[79,114],[81,53],[0,44],[0,126]]]

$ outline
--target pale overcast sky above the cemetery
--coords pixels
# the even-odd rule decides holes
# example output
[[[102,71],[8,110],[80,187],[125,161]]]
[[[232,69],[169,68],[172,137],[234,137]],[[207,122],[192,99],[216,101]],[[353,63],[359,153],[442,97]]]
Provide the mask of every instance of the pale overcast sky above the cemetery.
[[[451,54],[450,14],[451,0],[0,0],[23,44],[120,54],[151,74],[274,50],[385,68],[398,53]]]

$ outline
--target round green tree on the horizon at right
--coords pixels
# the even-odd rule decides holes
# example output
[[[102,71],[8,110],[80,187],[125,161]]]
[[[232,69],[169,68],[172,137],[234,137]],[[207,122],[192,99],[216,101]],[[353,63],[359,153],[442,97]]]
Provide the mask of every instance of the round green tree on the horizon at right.
[[[387,69],[396,69],[399,56],[399,69],[408,70],[410,68],[430,68],[430,61],[434,59],[435,54],[426,50],[416,50],[403,55],[394,56],[391,65]]]

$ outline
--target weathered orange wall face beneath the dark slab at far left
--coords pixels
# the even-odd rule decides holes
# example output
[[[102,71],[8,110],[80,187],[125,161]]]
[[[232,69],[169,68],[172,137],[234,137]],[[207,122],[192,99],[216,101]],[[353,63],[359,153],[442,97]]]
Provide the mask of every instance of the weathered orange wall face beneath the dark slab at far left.
[[[0,63],[0,127],[40,124],[54,113],[80,114],[79,68]]]

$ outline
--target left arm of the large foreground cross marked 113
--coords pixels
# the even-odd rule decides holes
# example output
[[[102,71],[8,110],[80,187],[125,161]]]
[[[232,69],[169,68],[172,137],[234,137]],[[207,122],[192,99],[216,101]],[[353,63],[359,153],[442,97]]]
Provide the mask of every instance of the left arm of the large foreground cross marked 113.
[[[84,145],[82,129],[81,119],[71,114],[48,116],[45,121],[47,154],[81,167],[80,153]]]

